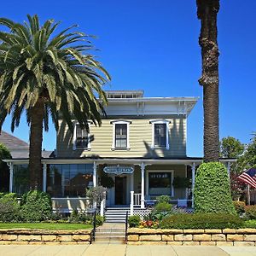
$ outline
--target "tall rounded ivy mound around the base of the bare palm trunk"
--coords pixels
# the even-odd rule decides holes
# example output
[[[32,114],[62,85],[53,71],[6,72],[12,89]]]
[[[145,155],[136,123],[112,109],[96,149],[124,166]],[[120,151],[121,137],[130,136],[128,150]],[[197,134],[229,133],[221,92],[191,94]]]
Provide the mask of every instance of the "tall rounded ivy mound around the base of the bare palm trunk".
[[[195,175],[194,195],[195,212],[236,214],[228,172],[221,163],[201,164]]]

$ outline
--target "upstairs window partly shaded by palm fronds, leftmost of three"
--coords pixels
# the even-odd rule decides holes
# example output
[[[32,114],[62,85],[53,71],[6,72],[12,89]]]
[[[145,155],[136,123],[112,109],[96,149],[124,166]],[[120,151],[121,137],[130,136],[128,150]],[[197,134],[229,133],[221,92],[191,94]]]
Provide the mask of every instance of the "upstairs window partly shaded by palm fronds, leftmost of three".
[[[81,129],[79,124],[75,125],[73,149],[87,148],[90,149],[90,134],[86,129]]]

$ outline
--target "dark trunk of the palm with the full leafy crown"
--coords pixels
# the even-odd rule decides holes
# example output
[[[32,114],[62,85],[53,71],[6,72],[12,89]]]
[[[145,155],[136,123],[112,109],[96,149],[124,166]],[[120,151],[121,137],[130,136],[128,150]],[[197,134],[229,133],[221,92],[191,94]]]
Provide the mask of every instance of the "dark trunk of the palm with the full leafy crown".
[[[29,147],[29,173],[30,189],[42,190],[42,142],[43,142],[43,120],[44,120],[44,100],[38,99],[32,108],[32,121],[30,128],[30,147]]]

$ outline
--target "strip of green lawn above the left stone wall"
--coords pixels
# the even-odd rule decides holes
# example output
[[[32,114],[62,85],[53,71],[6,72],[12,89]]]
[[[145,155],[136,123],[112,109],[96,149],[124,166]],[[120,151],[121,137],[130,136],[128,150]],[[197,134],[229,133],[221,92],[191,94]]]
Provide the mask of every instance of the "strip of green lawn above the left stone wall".
[[[52,224],[52,223],[0,223],[0,229],[39,229],[39,230],[86,230],[90,224]]]

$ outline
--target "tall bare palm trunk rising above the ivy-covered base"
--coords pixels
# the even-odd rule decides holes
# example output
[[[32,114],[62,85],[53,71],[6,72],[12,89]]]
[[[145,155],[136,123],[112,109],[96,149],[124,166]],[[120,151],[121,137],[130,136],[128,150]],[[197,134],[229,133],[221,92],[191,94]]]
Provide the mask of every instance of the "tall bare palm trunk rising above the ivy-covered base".
[[[217,14],[219,0],[196,0],[197,17],[201,20],[199,44],[202,56],[204,106],[204,160],[218,161],[218,42]]]

